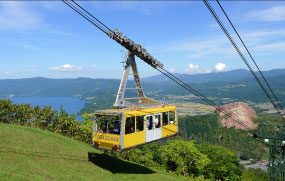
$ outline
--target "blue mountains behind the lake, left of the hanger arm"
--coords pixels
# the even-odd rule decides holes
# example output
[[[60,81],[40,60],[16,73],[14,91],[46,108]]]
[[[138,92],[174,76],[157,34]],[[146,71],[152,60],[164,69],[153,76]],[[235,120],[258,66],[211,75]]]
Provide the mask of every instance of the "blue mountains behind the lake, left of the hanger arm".
[[[0,97],[81,96],[97,89],[118,87],[117,79],[49,79],[43,77],[0,80]]]

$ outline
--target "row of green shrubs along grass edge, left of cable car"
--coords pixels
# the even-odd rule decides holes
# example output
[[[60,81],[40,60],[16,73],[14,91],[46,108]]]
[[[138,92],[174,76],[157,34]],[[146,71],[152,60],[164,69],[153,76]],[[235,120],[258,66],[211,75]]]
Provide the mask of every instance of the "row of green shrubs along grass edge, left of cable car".
[[[33,126],[79,141],[91,143],[90,125],[81,124],[65,111],[53,111],[50,106],[40,108],[29,104],[12,104],[10,100],[0,100],[0,122]]]

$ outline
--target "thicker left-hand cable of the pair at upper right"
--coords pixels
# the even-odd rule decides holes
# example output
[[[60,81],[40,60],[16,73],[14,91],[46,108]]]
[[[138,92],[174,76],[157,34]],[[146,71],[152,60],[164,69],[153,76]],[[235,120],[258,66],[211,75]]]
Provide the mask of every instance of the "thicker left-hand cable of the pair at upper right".
[[[282,116],[282,113],[280,112],[280,110],[278,109],[278,107],[276,106],[275,102],[272,100],[271,96],[268,94],[266,88],[263,86],[262,82],[260,81],[260,79],[257,77],[257,75],[255,74],[255,72],[253,71],[253,69],[251,68],[250,64],[248,63],[248,61],[246,60],[245,56],[243,55],[243,53],[241,52],[241,50],[239,49],[239,47],[237,46],[237,44],[235,43],[235,41],[233,40],[232,36],[229,34],[229,32],[227,31],[227,29],[225,28],[224,24],[222,23],[222,21],[220,20],[220,18],[218,17],[218,15],[216,14],[216,12],[214,11],[214,9],[211,7],[210,3],[207,0],[203,0],[205,5],[207,6],[208,10],[210,11],[210,13],[212,14],[212,16],[215,18],[215,20],[217,21],[217,23],[220,25],[221,29],[223,30],[223,32],[226,34],[227,38],[229,39],[229,41],[231,42],[231,44],[234,46],[235,50],[237,51],[237,53],[239,54],[239,56],[241,57],[241,59],[244,61],[244,63],[247,65],[247,67],[249,68],[251,74],[253,75],[253,77],[255,78],[255,80],[257,81],[257,83],[259,84],[259,86],[261,87],[261,89],[263,90],[263,92],[265,93],[265,95],[267,96],[267,98],[269,99],[269,101],[271,102],[271,104],[274,106],[275,110],[281,115],[282,119],[285,121],[285,118]]]

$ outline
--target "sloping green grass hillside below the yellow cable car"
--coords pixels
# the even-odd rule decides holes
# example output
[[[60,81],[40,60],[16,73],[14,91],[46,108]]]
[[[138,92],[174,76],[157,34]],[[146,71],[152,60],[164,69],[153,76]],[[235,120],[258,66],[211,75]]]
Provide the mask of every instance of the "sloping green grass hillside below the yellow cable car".
[[[0,123],[0,180],[186,180],[40,129]],[[94,153],[92,162],[88,152]],[[139,155],[138,155],[139,156]]]

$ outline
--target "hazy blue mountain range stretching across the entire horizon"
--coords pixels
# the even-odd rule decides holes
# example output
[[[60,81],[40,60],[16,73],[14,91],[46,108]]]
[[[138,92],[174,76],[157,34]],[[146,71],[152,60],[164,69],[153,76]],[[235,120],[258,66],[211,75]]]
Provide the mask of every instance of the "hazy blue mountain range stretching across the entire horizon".
[[[279,94],[283,95],[281,89],[285,89],[285,69],[274,69],[264,71],[264,76],[268,78],[269,83],[279,90]],[[249,71],[237,69],[228,72],[207,73],[207,74],[175,74],[177,77],[198,90],[206,93],[206,95],[217,95],[222,87],[228,89],[236,85],[246,84],[253,86],[250,94],[259,90],[259,87],[253,80]],[[25,79],[5,79],[0,80],[0,97],[13,96],[114,96],[118,90],[120,80],[118,79],[49,79],[43,77],[25,78]],[[127,87],[131,87],[133,81],[128,83]],[[178,88],[171,80],[164,75],[156,75],[142,79],[142,85],[146,94],[149,96],[164,96],[168,94],[179,95],[185,94],[181,88]],[[241,89],[241,88],[239,88]],[[239,90],[228,90],[238,93]],[[227,92],[225,92],[227,93]],[[244,92],[244,94],[247,94]],[[224,94],[223,94],[224,95]],[[231,96],[230,96],[231,97]]]

